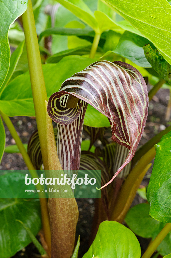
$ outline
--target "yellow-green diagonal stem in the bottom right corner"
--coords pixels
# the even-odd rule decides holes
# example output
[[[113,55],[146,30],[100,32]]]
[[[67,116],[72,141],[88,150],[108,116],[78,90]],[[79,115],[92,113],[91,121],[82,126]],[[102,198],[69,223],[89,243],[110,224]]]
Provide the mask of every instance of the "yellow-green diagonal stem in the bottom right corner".
[[[160,231],[158,236],[152,241],[152,243],[148,246],[146,252],[143,254],[142,258],[150,258],[151,255],[156,251],[157,247],[163,241],[163,239],[167,236],[169,231],[171,230],[171,224],[167,223],[165,227]]]

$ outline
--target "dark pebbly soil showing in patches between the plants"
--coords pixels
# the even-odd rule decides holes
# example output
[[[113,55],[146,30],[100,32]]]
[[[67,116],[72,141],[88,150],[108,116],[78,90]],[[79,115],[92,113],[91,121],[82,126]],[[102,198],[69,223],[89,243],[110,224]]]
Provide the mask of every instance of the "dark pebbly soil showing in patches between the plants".
[[[154,135],[159,133],[161,130],[164,130],[168,123],[165,120],[166,108],[168,103],[169,90],[160,89],[156,96],[149,103],[149,115],[145,130],[140,141],[139,147],[151,139]],[[11,121],[16,128],[19,136],[23,143],[27,143],[30,135],[34,130],[36,130],[36,120],[34,117],[12,117]],[[6,146],[10,144],[15,144],[14,139],[12,139],[10,132],[5,126],[6,131]],[[27,169],[21,154],[7,154],[4,153],[2,158],[0,169]],[[146,176],[141,183],[142,186],[147,186],[149,183],[149,177],[152,171],[152,167],[147,172]],[[132,205],[142,203],[145,200],[142,199],[138,194],[135,196]],[[77,227],[77,234],[81,235],[81,246],[80,246],[80,257],[82,257],[89,248],[89,236],[91,233],[91,228],[93,227],[93,215],[94,215],[94,199],[93,198],[80,198],[77,199],[79,207],[79,222]],[[142,239],[138,237],[141,245],[142,253],[147,248],[149,239]],[[13,258],[35,258],[37,251],[33,244],[30,244],[28,247],[24,248],[22,251],[17,253]]]

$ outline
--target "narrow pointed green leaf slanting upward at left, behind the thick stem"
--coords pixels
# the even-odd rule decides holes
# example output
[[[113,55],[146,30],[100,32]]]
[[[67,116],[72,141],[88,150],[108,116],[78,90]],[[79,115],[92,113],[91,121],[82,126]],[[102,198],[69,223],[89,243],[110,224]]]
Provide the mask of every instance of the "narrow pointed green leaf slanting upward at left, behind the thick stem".
[[[18,61],[21,57],[21,54],[23,52],[23,47],[24,47],[24,42],[21,42],[18,46],[18,48],[11,54],[11,58],[10,58],[10,67],[9,67],[9,70],[8,70],[8,73],[7,73],[7,76],[2,84],[2,88],[1,90],[7,85],[7,83],[9,82],[9,80],[11,79],[14,71],[15,71],[15,68],[18,64]]]

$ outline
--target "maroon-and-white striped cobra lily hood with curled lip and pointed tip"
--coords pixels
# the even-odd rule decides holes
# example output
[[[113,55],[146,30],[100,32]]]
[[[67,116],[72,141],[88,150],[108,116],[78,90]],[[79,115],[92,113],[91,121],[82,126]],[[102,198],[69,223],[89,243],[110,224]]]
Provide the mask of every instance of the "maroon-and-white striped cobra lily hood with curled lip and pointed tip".
[[[129,149],[108,185],[131,161],[141,139],[148,112],[147,86],[140,72],[124,62],[98,61],[66,79],[47,105],[57,123],[57,152],[63,169],[80,167],[87,103],[108,117],[112,140]]]

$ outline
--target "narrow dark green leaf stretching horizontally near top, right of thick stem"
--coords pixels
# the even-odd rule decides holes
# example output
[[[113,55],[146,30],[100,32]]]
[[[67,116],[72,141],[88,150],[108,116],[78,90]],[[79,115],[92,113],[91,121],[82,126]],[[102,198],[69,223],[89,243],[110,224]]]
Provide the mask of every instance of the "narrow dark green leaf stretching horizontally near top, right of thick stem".
[[[41,41],[42,37],[47,37],[52,34],[55,35],[75,35],[75,36],[82,36],[87,35],[90,31],[92,31],[89,27],[85,29],[80,28],[49,28],[43,31],[39,36],[39,42]]]

